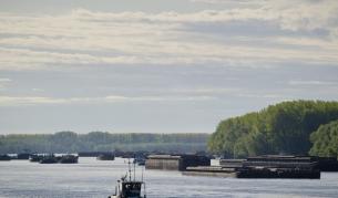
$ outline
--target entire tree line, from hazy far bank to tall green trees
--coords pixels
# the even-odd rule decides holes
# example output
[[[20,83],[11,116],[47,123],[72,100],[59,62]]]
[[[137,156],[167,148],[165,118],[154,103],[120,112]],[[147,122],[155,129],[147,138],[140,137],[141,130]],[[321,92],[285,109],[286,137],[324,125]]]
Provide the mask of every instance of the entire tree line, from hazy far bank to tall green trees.
[[[225,157],[267,154],[338,156],[338,102],[293,101],[222,121],[208,134],[0,135],[0,154],[79,152],[195,153]]]

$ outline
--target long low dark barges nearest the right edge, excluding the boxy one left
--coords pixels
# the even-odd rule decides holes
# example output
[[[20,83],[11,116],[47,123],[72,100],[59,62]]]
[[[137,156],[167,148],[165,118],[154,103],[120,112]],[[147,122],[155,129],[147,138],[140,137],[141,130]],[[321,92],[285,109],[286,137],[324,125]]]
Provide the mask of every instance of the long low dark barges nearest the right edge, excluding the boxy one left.
[[[265,155],[246,159],[221,159],[219,166],[187,167],[183,175],[234,178],[320,179],[320,171],[337,171],[336,158]]]

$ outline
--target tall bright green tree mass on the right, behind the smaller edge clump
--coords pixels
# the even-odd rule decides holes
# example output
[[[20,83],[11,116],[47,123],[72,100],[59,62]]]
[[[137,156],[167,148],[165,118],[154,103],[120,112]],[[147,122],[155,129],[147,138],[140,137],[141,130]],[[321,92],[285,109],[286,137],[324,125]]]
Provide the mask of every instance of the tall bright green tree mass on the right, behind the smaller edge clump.
[[[208,149],[226,157],[308,154],[310,134],[335,119],[338,102],[283,102],[221,122],[208,139]]]

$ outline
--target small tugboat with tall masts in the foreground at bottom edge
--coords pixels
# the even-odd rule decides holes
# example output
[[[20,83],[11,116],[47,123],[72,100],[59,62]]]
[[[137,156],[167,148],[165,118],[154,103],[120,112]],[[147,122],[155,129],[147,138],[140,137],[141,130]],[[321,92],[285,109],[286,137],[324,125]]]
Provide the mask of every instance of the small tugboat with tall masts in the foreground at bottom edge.
[[[142,179],[135,180],[135,164],[134,164],[134,180],[132,180],[131,176],[131,161],[129,160],[129,179],[127,175],[117,180],[117,185],[115,187],[115,194],[109,196],[107,198],[146,198],[145,195],[145,183],[143,181],[143,171]],[[143,186],[143,192],[142,192]]]

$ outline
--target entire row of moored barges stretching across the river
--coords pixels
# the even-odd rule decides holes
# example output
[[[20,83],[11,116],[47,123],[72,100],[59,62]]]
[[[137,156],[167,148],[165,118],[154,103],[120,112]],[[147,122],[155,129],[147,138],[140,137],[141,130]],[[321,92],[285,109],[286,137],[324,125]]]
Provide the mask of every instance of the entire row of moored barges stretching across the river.
[[[140,152],[139,152],[140,153]],[[114,160],[115,156],[134,158],[133,164],[146,169],[177,170],[190,176],[235,178],[309,178],[319,179],[321,171],[338,171],[336,157],[263,155],[245,159],[215,159],[203,155],[142,153],[82,153],[78,155],[20,154],[0,155],[0,160],[27,159],[40,164],[76,164],[79,156],[95,156],[99,160]]]

